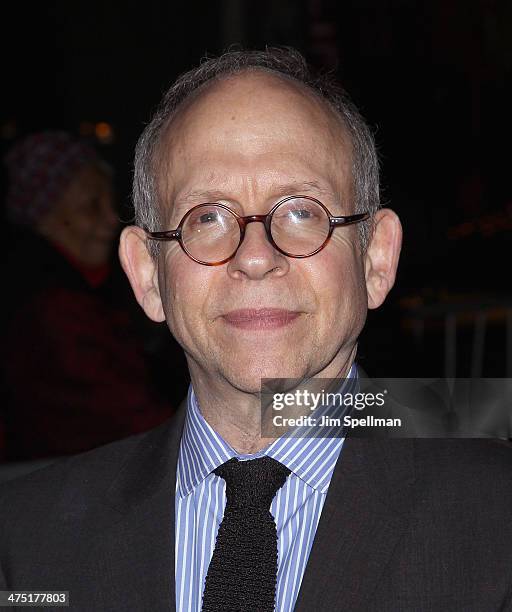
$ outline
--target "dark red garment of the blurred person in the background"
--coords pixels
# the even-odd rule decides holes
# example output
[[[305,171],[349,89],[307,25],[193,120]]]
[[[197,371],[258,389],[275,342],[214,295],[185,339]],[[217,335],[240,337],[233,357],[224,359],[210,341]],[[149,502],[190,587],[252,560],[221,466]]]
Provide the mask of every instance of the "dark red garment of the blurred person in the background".
[[[12,460],[88,450],[150,429],[172,414],[153,393],[123,299],[88,286],[53,249],[47,263],[44,282],[30,294],[27,284],[27,298],[5,331]],[[23,289],[16,293],[23,295]]]

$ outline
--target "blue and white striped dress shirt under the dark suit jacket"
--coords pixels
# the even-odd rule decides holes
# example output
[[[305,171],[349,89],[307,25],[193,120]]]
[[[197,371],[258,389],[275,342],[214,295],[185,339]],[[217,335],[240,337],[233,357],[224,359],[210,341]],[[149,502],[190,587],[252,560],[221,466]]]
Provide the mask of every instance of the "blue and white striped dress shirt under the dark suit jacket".
[[[350,385],[356,384],[352,366]],[[348,381],[347,381],[348,382]],[[201,415],[192,387],[181,439],[176,474],[176,610],[200,612],[204,582],[226,505],[225,481],[212,474],[233,457],[267,455],[291,474],[277,492],[270,511],[278,535],[275,609],[291,612],[313,545],[331,476],[344,438],[282,436],[251,455],[237,453]]]

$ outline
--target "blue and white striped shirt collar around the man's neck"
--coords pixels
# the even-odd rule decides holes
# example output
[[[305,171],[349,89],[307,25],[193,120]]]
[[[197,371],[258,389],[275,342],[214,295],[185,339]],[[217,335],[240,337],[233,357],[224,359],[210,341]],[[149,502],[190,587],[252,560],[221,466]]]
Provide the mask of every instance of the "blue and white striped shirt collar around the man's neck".
[[[352,365],[343,391],[357,385],[357,366]],[[192,386],[187,396],[187,415],[183,428],[177,468],[177,492],[183,498],[213,470],[229,459],[256,459],[264,455],[285,465],[313,489],[326,493],[344,438],[282,436],[258,453],[237,453],[205,420]]]

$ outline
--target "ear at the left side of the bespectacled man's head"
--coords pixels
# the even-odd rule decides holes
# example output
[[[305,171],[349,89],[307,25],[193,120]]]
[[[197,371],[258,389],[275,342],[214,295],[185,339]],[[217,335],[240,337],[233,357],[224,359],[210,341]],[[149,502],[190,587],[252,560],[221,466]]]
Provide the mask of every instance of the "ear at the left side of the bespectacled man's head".
[[[152,321],[163,321],[165,315],[158,287],[157,263],[147,249],[146,233],[142,228],[132,225],[121,232],[119,259],[146,315]]]

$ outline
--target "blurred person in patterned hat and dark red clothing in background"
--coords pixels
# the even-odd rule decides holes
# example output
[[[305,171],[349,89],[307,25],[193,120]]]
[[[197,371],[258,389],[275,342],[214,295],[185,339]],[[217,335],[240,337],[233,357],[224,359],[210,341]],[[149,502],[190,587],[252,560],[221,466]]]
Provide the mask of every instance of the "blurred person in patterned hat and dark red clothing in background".
[[[152,391],[127,287],[112,274],[111,170],[64,132],[25,138],[6,164],[7,459],[77,453],[164,421],[170,406]]]

